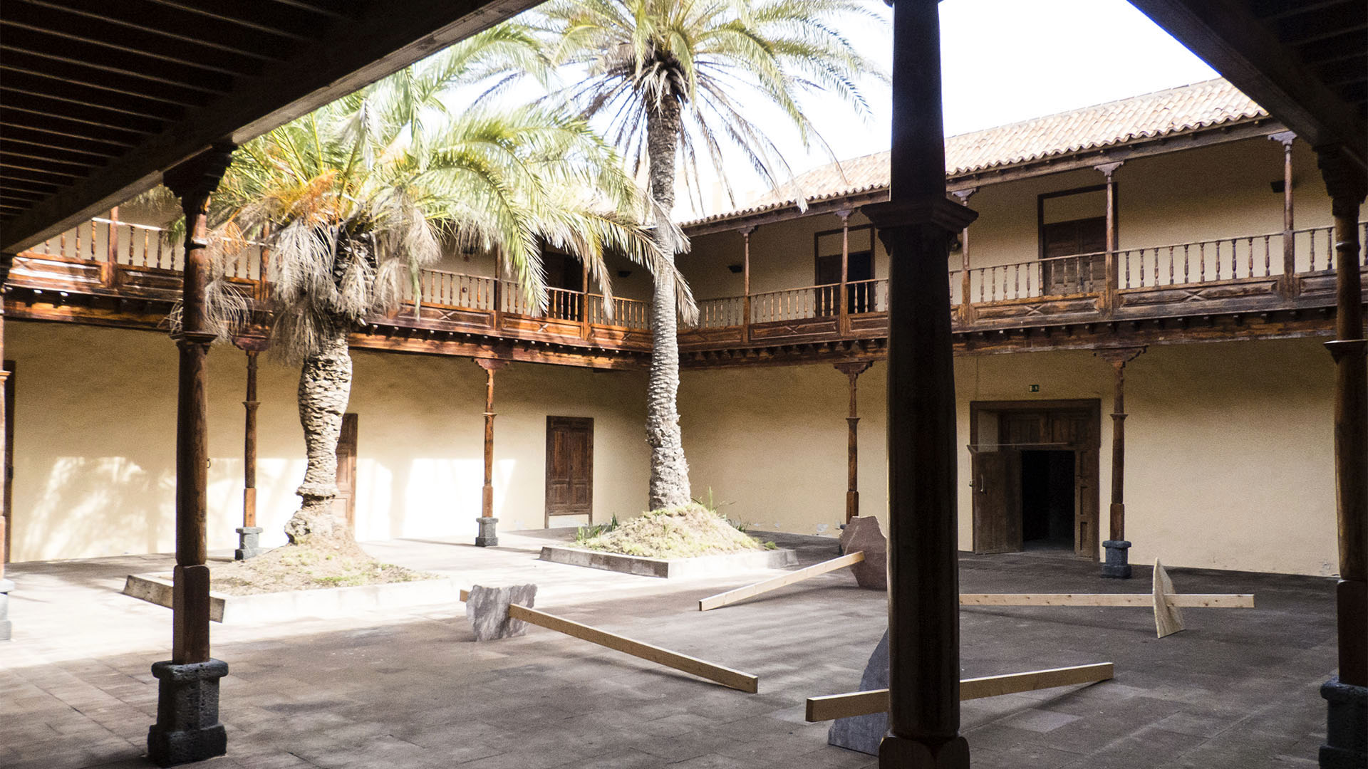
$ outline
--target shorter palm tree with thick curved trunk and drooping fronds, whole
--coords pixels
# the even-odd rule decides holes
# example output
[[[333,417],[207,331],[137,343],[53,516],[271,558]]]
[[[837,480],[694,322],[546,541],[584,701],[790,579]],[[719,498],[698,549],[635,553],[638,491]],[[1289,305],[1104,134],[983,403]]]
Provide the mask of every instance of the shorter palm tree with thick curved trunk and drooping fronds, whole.
[[[308,464],[290,542],[352,546],[331,509],[347,334],[393,312],[401,282],[416,287],[443,246],[498,253],[542,308],[543,245],[584,260],[606,294],[605,250],[657,261],[633,224],[644,213],[637,187],[583,118],[546,104],[494,111],[484,99],[447,108],[453,92],[490,78],[486,93],[498,92],[505,73],[535,68],[538,56],[521,30],[495,27],[246,144],[224,175],[215,242],[230,257],[269,230],[272,349],[301,364]],[[222,282],[212,297],[223,320],[241,317]]]

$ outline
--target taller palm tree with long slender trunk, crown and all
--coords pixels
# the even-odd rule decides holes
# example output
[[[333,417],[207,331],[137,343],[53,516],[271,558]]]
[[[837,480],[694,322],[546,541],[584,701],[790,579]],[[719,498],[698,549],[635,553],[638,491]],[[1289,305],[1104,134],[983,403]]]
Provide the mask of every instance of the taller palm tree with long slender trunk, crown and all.
[[[680,160],[695,196],[699,155],[731,194],[724,145],[739,149],[770,186],[792,178],[770,134],[747,115],[755,100],[777,107],[804,145],[819,137],[799,105],[803,93],[833,93],[869,114],[855,81],[878,68],[836,30],[843,14],[877,18],[860,0],[553,0],[528,23],[576,78],[566,93],[584,115],[606,118],[609,141],[633,171],[647,168],[657,246],[673,264],[688,248],[668,226]],[[676,402],[674,283],[673,271],[657,271],[646,419],[651,509],[689,501]]]

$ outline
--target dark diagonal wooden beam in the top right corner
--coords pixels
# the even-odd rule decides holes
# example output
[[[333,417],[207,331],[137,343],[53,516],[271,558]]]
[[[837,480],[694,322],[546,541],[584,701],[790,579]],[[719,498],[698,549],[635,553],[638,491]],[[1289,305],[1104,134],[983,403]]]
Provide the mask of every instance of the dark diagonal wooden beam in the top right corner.
[[[1368,129],[1244,0],[1130,0],[1312,146],[1339,145],[1368,168]],[[1361,48],[1363,42],[1357,44]]]

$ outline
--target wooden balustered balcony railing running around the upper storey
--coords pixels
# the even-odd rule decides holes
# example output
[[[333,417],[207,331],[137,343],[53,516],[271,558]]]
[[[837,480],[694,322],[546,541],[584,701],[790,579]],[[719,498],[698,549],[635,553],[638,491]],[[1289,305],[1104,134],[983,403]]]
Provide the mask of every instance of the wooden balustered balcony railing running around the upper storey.
[[[1368,241],[1368,223],[1363,227]],[[967,281],[955,270],[949,272],[948,309],[959,328],[992,330],[1332,307],[1332,237],[1331,229],[1313,227],[1120,249],[1111,255],[1111,278],[1107,253],[973,267]],[[269,252],[248,244],[234,255],[227,278],[250,297],[264,296]],[[60,301],[74,293],[172,302],[179,297],[182,263],[183,248],[161,229],[97,218],[18,255],[10,283],[36,294],[63,294]],[[547,289],[543,309],[513,282],[443,270],[423,270],[416,283],[405,283],[402,298],[408,309],[376,320],[514,339],[580,339],[629,352],[650,349],[650,305],[643,301],[614,297],[609,312],[601,294]],[[698,323],[680,327],[684,350],[888,333],[888,281],[882,278],[851,281],[844,291],[840,283],[830,283],[706,298],[698,307]],[[71,319],[60,311],[52,317]]]

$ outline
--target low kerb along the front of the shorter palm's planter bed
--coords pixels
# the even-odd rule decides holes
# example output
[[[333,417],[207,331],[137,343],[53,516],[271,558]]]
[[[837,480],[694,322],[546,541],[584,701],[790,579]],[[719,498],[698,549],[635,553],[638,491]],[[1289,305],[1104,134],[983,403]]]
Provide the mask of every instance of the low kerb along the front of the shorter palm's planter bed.
[[[129,575],[123,583],[123,594],[171,608],[171,575]],[[432,603],[456,606],[460,602],[460,586],[446,577],[253,595],[224,595],[211,591],[209,618],[215,623],[238,624],[295,617],[347,617],[372,609]]]

